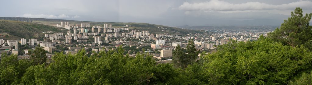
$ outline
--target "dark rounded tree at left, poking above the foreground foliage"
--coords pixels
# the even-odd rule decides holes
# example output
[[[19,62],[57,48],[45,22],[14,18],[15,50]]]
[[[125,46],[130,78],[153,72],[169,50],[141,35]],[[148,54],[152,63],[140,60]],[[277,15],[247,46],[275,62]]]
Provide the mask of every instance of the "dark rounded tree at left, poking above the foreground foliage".
[[[40,44],[35,48],[31,55],[34,64],[46,63],[46,50],[40,47]]]

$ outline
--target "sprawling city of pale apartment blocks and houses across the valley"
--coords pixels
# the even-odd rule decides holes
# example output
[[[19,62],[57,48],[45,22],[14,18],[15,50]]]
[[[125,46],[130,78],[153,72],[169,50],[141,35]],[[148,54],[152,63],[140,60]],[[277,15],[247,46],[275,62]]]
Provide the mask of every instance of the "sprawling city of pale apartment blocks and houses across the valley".
[[[26,39],[4,40],[1,53],[17,54],[19,59],[29,59],[28,50],[34,50],[40,45],[47,51],[47,58],[54,55],[54,52],[65,54],[76,54],[80,49],[99,52],[101,50],[114,50],[119,46],[125,49],[124,54],[135,57],[136,53],[148,52],[158,59],[158,62],[172,61],[172,49],[180,45],[186,49],[188,40],[194,40],[197,50],[205,52],[215,51],[218,45],[227,44],[230,40],[236,41],[256,41],[260,36],[267,36],[268,32],[274,31],[274,26],[266,27],[267,30],[202,30],[203,33],[179,34],[154,34],[148,30],[131,30],[125,25],[123,28],[114,27],[112,24],[102,26],[90,25],[90,23],[69,24],[70,22],[60,22],[53,25],[58,29],[66,30],[63,32],[43,32],[42,40]],[[28,48],[19,50],[19,46]],[[136,50],[140,49],[140,50]],[[19,52],[20,51],[20,52]]]

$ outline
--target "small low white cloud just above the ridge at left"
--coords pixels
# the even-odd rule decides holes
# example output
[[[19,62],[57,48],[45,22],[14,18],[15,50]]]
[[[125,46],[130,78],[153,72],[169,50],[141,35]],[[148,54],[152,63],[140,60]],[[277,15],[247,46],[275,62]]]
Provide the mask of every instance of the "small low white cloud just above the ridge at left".
[[[48,14],[31,14],[31,13],[25,13],[21,16],[16,16],[16,17],[32,17],[32,18],[69,18],[68,15],[61,14],[61,15],[48,15]]]

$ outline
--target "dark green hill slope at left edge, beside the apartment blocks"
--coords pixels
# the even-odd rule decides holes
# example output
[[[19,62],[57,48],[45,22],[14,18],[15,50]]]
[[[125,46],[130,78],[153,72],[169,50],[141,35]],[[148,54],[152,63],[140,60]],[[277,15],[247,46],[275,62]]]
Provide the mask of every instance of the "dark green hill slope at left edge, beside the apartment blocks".
[[[0,20],[0,33],[9,34],[8,36],[1,36],[0,39],[31,38],[47,31],[61,32],[60,29],[43,24]]]

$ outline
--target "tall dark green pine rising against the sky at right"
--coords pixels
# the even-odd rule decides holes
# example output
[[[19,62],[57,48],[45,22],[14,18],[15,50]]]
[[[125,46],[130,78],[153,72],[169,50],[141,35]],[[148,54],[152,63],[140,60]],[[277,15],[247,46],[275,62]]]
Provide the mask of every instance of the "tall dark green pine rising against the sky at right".
[[[302,9],[296,8],[295,12],[291,12],[291,17],[284,20],[280,28],[268,33],[268,36],[274,41],[292,47],[305,44],[312,38],[312,27],[309,25],[311,16],[312,13],[303,16]]]

